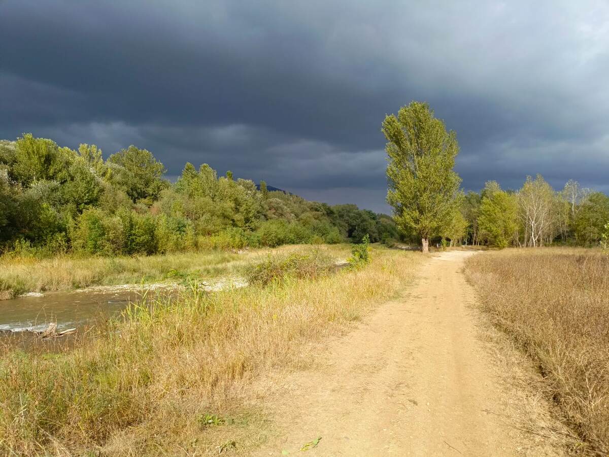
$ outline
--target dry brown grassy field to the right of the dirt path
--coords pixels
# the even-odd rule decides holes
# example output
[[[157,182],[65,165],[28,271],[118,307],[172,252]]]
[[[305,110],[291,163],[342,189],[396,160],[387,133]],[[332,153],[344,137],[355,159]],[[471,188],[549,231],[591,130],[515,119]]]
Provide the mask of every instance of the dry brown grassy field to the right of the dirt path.
[[[609,455],[609,256],[590,249],[506,249],[466,271],[494,323],[538,365],[565,421]]]

